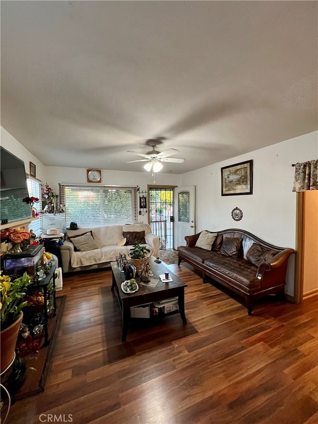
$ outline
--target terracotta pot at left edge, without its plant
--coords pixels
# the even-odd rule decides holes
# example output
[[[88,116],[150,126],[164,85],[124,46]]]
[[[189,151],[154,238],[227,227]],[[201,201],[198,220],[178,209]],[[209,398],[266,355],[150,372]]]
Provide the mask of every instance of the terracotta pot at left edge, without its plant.
[[[0,332],[0,355],[1,355],[1,372],[3,372],[13,361],[16,340],[20,329],[20,324],[23,318],[23,312],[20,312],[20,317],[10,325],[10,327]]]

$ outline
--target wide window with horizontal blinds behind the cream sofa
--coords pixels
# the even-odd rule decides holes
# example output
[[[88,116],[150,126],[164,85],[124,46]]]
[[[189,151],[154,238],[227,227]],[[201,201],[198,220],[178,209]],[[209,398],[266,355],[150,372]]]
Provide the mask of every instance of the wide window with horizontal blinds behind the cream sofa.
[[[137,188],[60,185],[65,221],[82,227],[137,222]]]

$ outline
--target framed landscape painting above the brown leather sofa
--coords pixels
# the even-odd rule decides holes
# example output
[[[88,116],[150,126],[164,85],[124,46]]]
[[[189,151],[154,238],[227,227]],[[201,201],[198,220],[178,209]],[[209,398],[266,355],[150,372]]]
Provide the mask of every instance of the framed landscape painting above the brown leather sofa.
[[[253,161],[221,168],[221,194],[234,196],[253,193]]]

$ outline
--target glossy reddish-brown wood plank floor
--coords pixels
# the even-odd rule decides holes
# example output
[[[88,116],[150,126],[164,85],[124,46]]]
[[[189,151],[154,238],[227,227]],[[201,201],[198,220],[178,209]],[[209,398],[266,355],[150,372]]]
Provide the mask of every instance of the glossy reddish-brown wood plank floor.
[[[318,297],[265,299],[248,317],[188,265],[169,268],[188,284],[188,324],[141,320],[124,343],[111,271],[64,278],[46,389],[7,423],[318,423]]]

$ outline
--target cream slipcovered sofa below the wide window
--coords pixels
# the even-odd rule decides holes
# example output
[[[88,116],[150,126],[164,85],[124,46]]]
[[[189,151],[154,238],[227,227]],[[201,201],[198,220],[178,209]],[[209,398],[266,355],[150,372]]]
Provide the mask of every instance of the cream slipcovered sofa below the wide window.
[[[123,239],[123,232],[143,231],[145,232],[145,246],[150,250],[148,256],[159,257],[159,237],[152,234],[149,224],[116,224],[67,230],[64,245],[61,246],[63,272],[104,268],[109,266],[110,261],[116,260],[116,256],[119,254],[126,254],[128,259],[132,245],[118,246],[117,243]],[[74,237],[90,232],[96,248],[86,252],[77,252],[71,240],[76,242]]]

